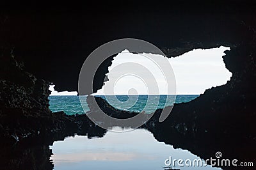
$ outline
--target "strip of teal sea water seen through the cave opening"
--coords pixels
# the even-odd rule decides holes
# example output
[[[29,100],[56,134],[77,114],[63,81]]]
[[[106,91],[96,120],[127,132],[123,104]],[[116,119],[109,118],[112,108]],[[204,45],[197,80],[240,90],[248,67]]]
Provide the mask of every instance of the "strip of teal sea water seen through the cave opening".
[[[151,113],[156,111],[156,109],[163,108],[167,105],[172,105],[174,100],[175,104],[182,102],[189,102],[199,95],[177,95],[176,100],[172,95],[139,95],[138,98],[134,96],[129,97],[127,95],[117,95],[117,96],[97,96],[106,99],[109,104],[113,105],[118,109],[124,109],[127,111],[145,111]],[[136,98],[135,98],[136,97]],[[50,109],[52,112],[64,111],[66,114],[83,114],[84,111],[89,111],[89,108],[84,104],[84,110],[81,106],[78,96],[51,96],[49,97]],[[136,101],[136,102],[134,102]]]

